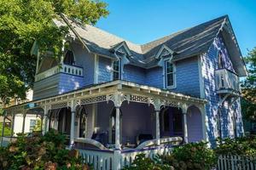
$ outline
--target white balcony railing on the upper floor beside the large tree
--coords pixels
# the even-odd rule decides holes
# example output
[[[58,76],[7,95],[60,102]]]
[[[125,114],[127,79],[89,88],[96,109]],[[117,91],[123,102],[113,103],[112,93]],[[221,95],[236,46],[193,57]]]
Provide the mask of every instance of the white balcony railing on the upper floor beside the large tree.
[[[56,65],[47,71],[37,74],[35,77],[35,81],[38,82],[40,80],[43,80],[44,78],[51,77],[59,72],[83,77],[83,68],[82,67],[75,66],[75,65],[62,65],[60,67],[59,65]]]

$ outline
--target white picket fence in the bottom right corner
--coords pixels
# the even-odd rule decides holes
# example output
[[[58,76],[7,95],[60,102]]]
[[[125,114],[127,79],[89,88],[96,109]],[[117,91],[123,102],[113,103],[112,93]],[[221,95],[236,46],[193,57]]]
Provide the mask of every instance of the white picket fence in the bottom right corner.
[[[256,170],[256,157],[218,156],[218,170]]]

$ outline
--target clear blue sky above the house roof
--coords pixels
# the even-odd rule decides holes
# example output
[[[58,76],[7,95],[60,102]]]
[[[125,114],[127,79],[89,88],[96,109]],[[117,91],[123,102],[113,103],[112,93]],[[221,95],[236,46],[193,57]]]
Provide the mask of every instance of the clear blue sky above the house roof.
[[[96,26],[143,44],[228,14],[241,53],[256,47],[256,0],[103,0],[110,14]]]

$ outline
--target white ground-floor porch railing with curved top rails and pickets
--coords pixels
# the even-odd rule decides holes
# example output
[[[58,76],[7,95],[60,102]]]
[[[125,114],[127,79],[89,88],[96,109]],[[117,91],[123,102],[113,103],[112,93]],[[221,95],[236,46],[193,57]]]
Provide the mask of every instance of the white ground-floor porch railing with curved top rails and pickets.
[[[130,166],[138,154],[145,154],[150,158],[156,155],[171,154],[172,146],[180,144],[182,138],[171,137],[160,139],[160,146],[155,146],[155,139],[153,139],[145,142],[145,144],[143,144],[145,146],[144,148],[137,147],[136,149],[126,150],[101,150],[100,147],[102,146],[93,142],[92,139],[88,140],[88,143],[85,139],[75,139],[75,141],[90,144],[97,148],[78,149],[80,156],[84,159],[84,163],[92,164],[94,169],[109,170]]]

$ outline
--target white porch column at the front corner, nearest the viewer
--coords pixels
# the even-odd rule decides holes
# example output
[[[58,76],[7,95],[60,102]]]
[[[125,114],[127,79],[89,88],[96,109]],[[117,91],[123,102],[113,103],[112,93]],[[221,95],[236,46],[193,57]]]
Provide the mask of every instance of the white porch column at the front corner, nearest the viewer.
[[[115,107],[115,149],[120,150],[120,107]]]

